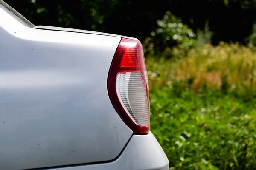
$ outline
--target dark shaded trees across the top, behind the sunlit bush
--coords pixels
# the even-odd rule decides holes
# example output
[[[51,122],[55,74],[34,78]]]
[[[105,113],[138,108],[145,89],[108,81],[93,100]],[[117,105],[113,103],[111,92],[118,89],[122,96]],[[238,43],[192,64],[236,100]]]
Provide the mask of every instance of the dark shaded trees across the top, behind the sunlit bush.
[[[164,15],[165,17],[170,15],[165,14],[166,11],[172,11],[172,14],[177,16],[174,20],[178,17],[182,18],[183,26],[187,25],[193,32],[198,29],[203,30],[206,21],[209,20],[209,30],[214,33],[212,37],[214,45],[218,45],[221,40],[245,44],[245,38],[250,35],[256,20],[255,0],[158,0],[152,1],[153,3],[138,0],[5,1],[36,26],[103,31],[137,37],[141,41],[157,28],[157,20]],[[169,17],[162,21],[169,22],[173,19]],[[166,23],[167,26],[168,24]],[[175,23],[170,24],[175,26]],[[181,29],[188,31],[183,26]],[[191,45],[190,40],[186,42],[186,39],[180,39],[179,31],[176,33],[173,31],[177,35],[168,35],[168,32],[164,40],[167,38]],[[186,36],[193,37],[189,34]]]

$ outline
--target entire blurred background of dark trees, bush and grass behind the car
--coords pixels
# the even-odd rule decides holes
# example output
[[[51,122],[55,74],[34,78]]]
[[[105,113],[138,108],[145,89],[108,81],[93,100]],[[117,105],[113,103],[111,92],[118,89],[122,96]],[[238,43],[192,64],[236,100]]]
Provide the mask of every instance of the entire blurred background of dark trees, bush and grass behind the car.
[[[171,170],[256,169],[256,0],[5,0],[36,26],[137,37]]]

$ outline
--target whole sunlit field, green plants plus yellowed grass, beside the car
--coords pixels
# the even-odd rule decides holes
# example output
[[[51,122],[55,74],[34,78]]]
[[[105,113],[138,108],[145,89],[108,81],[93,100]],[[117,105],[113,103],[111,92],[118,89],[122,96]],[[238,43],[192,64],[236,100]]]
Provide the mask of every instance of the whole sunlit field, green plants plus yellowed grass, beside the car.
[[[221,43],[146,63],[151,131],[170,169],[256,169],[256,52]]]

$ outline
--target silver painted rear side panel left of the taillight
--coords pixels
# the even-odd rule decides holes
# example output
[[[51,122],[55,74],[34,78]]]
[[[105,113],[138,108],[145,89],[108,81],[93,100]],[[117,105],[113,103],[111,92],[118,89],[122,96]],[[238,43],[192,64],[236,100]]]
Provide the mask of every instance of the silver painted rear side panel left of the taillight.
[[[120,37],[29,28],[0,8],[0,170],[115,159],[132,136],[107,77]]]

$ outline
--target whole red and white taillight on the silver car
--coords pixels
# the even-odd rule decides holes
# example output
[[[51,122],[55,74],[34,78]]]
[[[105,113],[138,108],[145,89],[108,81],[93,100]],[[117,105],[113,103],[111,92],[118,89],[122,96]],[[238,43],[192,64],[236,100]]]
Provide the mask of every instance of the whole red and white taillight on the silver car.
[[[108,95],[119,116],[134,133],[150,130],[148,76],[143,47],[122,38],[108,74]]]

